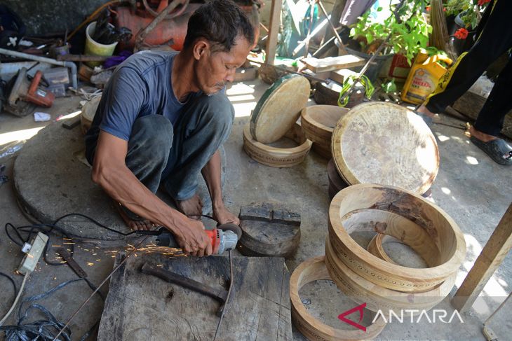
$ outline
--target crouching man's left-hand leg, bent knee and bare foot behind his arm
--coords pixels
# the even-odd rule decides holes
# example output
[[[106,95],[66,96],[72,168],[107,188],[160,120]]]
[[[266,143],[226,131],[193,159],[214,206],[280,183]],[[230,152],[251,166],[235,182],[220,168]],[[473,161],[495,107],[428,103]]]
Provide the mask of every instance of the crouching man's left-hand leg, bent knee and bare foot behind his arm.
[[[153,193],[159,188],[172,146],[173,125],[167,118],[149,115],[137,118],[133,123],[125,158],[126,167]],[[133,214],[121,204],[117,204],[116,208],[132,230],[151,229],[150,221]]]

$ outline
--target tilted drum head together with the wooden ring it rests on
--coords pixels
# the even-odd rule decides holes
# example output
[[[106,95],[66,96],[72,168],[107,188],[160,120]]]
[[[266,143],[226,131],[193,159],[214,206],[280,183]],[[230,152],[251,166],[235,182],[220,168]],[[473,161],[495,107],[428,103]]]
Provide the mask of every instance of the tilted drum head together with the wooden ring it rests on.
[[[256,104],[250,123],[243,130],[243,149],[252,159],[272,167],[292,167],[304,160],[311,141],[297,122],[311,91],[309,81],[297,74],[279,78]],[[294,148],[269,146],[283,137]]]

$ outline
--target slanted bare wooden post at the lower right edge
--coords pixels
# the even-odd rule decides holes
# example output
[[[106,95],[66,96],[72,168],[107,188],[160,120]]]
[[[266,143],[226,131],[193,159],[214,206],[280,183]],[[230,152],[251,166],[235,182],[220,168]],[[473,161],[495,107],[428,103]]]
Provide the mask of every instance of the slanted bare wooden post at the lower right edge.
[[[452,306],[465,312],[471,308],[492,274],[503,262],[512,247],[512,203],[508,206],[503,218],[492,232],[489,241],[476,258],[475,265],[469,270],[466,279],[452,299]]]

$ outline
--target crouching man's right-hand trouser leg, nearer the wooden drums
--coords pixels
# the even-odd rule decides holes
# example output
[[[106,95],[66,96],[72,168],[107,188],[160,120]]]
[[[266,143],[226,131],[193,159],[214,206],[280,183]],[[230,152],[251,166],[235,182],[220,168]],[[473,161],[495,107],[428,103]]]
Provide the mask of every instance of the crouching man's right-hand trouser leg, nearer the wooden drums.
[[[177,202],[190,200],[201,169],[229,137],[234,108],[222,92],[187,104],[178,119],[162,184]]]

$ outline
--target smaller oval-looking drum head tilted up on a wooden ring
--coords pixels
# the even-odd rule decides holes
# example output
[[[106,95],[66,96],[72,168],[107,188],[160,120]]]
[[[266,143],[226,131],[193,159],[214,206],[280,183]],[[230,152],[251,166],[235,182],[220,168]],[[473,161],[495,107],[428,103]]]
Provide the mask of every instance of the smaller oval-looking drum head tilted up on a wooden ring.
[[[304,76],[290,74],[279,78],[264,92],[252,111],[252,137],[262,144],[281,139],[299,118],[310,91],[309,81]]]

